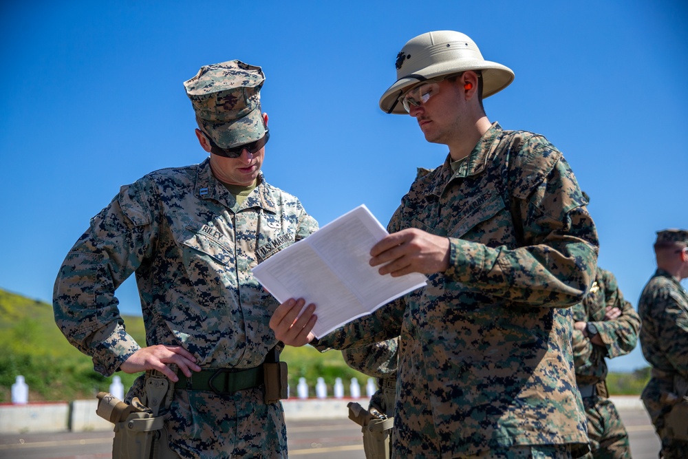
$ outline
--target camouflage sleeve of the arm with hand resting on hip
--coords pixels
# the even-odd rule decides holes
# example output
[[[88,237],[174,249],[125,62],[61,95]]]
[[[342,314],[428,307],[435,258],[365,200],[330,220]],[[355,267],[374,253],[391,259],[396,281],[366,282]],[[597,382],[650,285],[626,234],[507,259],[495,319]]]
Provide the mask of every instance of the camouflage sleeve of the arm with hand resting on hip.
[[[140,348],[125,330],[115,290],[149,255],[154,227],[142,184],[122,186],[69,250],[55,281],[56,324],[105,376]]]

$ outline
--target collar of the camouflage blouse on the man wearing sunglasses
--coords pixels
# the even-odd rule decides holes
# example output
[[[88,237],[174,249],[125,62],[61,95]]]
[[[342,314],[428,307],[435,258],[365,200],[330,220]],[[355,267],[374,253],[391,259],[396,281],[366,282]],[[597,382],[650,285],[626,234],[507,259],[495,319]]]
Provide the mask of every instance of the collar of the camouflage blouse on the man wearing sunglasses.
[[[258,175],[258,184],[255,187],[255,193],[241,203],[241,209],[245,207],[261,207],[264,211],[276,212],[277,206],[275,199],[272,198],[270,187],[265,182],[263,173]],[[232,209],[234,198],[230,198],[230,193],[226,187],[215,178],[211,169],[211,160],[206,158],[204,162],[199,164],[198,175],[196,177],[195,195],[199,199],[212,199],[217,202],[222,202],[228,209]]]

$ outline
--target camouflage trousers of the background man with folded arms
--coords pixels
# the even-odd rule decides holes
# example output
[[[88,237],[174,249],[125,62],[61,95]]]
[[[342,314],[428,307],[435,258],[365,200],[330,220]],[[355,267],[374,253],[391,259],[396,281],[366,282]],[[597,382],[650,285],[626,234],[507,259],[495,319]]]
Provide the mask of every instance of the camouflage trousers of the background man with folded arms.
[[[583,398],[588,418],[590,457],[596,459],[628,459],[631,448],[626,428],[619,412],[609,398],[599,396]]]

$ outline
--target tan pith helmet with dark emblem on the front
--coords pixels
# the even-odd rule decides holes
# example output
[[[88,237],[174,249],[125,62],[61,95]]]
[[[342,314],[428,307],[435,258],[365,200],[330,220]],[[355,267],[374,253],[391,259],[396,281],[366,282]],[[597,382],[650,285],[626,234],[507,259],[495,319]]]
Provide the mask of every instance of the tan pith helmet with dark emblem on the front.
[[[406,114],[397,99],[412,85],[436,76],[466,70],[482,70],[482,96],[501,91],[514,79],[510,68],[485,61],[471,38],[453,30],[439,30],[418,35],[407,41],[396,56],[396,82],[380,98],[380,108],[387,113]]]

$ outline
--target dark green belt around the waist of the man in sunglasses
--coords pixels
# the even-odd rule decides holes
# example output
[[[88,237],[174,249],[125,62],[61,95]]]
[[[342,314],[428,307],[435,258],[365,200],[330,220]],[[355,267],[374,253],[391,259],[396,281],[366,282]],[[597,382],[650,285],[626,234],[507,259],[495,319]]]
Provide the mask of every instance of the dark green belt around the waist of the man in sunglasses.
[[[182,372],[177,375],[179,381],[175,389],[204,390],[218,395],[229,395],[239,390],[252,389],[263,384],[263,365],[255,368],[237,370],[235,368],[219,368],[191,372],[187,378]]]

